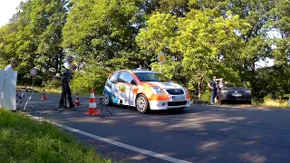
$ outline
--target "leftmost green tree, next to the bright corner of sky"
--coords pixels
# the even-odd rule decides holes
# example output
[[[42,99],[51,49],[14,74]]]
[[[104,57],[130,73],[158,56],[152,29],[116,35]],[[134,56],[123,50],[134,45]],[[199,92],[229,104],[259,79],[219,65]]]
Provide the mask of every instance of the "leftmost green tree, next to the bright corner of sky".
[[[39,69],[36,82],[50,79],[52,76],[47,71],[51,68],[58,70],[63,59],[60,43],[66,3],[64,0],[28,0],[20,5],[8,28],[3,28],[6,38],[0,41],[2,57],[18,60],[20,84],[31,82],[25,79],[34,67]]]

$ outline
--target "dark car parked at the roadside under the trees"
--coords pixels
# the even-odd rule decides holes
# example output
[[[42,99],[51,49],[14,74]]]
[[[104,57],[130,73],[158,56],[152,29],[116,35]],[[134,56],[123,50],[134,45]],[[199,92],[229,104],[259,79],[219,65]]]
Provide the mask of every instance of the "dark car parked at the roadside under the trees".
[[[252,104],[251,90],[243,83],[226,82],[218,90],[218,102],[219,104],[233,102]]]

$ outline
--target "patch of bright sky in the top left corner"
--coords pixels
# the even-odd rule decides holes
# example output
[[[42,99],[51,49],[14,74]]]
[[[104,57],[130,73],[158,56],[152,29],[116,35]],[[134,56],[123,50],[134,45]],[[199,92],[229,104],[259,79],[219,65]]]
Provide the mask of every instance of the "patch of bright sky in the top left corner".
[[[16,13],[16,7],[25,0],[0,0],[0,27],[8,24],[9,19]]]

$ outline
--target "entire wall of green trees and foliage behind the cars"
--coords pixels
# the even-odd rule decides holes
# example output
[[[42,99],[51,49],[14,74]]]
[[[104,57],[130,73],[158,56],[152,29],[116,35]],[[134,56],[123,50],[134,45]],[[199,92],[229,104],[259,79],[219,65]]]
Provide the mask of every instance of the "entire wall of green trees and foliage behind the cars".
[[[278,97],[290,93],[289,17],[287,0],[28,0],[0,28],[0,68],[16,59],[18,84],[30,84],[36,67],[35,83],[53,87],[73,55],[82,66],[73,91],[102,92],[109,69],[159,72],[164,53],[162,72],[190,91],[201,93],[216,75],[247,82],[255,97]],[[279,37],[269,38],[273,30]],[[258,69],[266,58],[275,66]]]

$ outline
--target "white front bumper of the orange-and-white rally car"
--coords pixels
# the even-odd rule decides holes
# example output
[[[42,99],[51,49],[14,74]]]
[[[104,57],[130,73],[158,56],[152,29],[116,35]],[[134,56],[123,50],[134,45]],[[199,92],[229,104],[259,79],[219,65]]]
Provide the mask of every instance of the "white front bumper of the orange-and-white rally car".
[[[186,101],[149,101],[150,110],[169,110],[190,107],[190,100]]]

